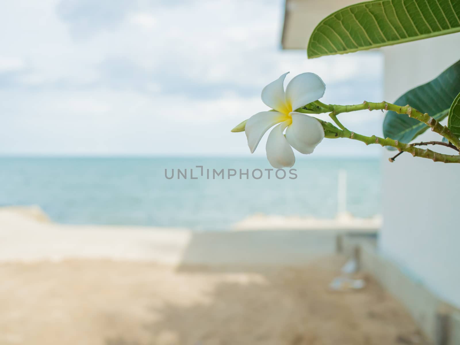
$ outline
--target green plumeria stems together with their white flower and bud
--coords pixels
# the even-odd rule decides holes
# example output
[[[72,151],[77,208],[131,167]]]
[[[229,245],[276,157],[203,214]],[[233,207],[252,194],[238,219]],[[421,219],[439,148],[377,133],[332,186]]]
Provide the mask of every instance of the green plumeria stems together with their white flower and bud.
[[[366,145],[391,146],[400,152],[409,152],[414,157],[444,163],[460,163],[460,154],[447,155],[416,147],[428,144],[443,145],[460,152],[460,139],[427,113],[421,113],[410,105],[400,106],[385,101],[380,103],[364,101],[362,104],[352,105],[324,104],[318,100],[325,91],[325,84],[320,77],[313,73],[297,75],[284,90],[283,81],[286,75],[287,73],[283,74],[262,90],[262,102],[272,109],[253,115],[232,129],[232,132],[244,131],[246,133],[249,149],[254,152],[265,132],[272,128],[267,138],[266,152],[268,161],[273,167],[292,167],[295,162],[293,149],[302,154],[311,154],[323,138],[349,138],[361,141]],[[316,101],[314,101],[315,99]],[[338,119],[339,114],[364,109],[391,110],[397,114],[407,115],[430,127],[431,131],[446,138],[448,143],[433,141],[406,144],[375,135],[368,137],[350,131]],[[311,116],[326,113],[334,124]],[[397,155],[390,161],[394,161],[396,157]]]

